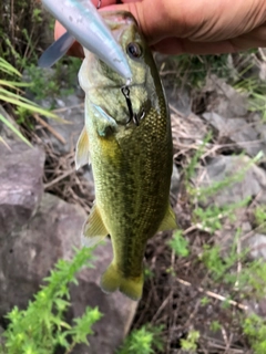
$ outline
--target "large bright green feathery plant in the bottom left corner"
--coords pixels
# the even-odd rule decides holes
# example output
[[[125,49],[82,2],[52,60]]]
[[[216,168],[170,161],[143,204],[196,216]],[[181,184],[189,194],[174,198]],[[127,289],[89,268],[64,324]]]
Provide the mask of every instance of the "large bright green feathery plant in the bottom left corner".
[[[75,252],[72,261],[58,261],[28,309],[14,308],[7,315],[10,323],[3,334],[1,354],[51,354],[58,346],[69,354],[75,344],[88,344],[93,323],[101,319],[99,310],[86,308],[72,325],[65,322],[64,313],[70,306],[69,284],[78,284],[76,272],[82,267],[91,268],[91,260],[92,251],[84,248]]]

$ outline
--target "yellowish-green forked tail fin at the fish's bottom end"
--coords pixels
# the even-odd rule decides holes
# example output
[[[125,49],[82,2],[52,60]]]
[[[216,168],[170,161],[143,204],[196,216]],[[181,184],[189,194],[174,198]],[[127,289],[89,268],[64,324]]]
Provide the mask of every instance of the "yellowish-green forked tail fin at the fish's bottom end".
[[[137,301],[142,296],[143,282],[143,274],[137,278],[124,278],[112,262],[102,274],[101,288],[106,293],[119,289],[124,295]]]

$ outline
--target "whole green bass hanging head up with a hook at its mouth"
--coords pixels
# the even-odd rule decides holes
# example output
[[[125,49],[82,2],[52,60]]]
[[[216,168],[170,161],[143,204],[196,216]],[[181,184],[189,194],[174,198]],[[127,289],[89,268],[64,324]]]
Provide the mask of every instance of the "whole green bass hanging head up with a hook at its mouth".
[[[125,86],[121,75],[84,50],[79,81],[85,93],[85,124],[75,166],[91,164],[95,200],[82,242],[93,247],[110,235],[113,260],[100,285],[137,301],[147,240],[177,227],[170,205],[171,121],[152,52],[135,19],[121,11],[101,14],[126,55],[132,81]]]

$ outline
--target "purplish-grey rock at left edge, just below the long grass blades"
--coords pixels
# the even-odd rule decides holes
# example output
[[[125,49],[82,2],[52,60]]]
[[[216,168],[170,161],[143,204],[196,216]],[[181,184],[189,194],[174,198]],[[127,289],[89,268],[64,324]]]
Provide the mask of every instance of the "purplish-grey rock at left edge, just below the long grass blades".
[[[0,244],[34,215],[42,195],[44,153],[20,140],[0,144]]]

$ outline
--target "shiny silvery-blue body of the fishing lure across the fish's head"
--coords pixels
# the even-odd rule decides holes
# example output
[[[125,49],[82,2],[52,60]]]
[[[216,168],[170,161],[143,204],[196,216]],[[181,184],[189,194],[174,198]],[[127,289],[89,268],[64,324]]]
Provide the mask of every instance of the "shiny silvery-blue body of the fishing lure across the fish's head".
[[[90,0],[42,0],[42,3],[82,46],[131,81],[132,72],[121,45]]]

